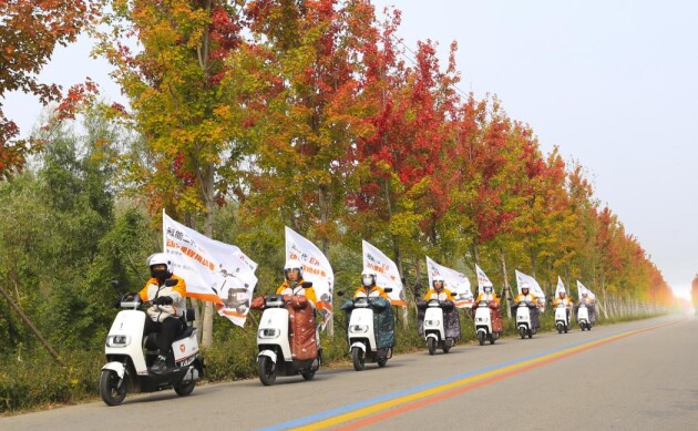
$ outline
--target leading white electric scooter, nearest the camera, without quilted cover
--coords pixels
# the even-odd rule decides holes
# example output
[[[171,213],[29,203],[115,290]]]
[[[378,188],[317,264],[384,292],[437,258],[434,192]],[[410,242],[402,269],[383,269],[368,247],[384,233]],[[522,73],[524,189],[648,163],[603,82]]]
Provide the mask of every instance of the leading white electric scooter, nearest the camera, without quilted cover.
[[[121,298],[120,307],[122,310],[109,330],[104,347],[107,363],[100,374],[102,400],[109,406],[117,406],[127,392],[154,392],[170,388],[182,397],[191,394],[196,381],[204,376],[196,329],[187,326],[177,335],[167,352],[167,370],[153,373],[148,367],[158,355],[155,343],[157,333],[143,337],[147,316],[142,311],[141,297],[138,294],[126,294]],[[193,320],[193,312],[187,312],[187,316]]]

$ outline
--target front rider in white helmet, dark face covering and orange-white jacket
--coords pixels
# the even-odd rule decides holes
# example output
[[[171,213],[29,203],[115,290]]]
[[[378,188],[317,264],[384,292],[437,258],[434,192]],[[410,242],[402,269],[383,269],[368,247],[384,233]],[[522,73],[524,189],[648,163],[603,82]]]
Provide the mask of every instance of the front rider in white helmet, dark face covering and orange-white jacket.
[[[167,368],[166,357],[170,346],[186,324],[182,317],[186,312],[186,284],[184,279],[172,274],[172,259],[165,253],[156,253],[147,258],[151,278],[138,295],[141,299],[151,301],[145,319],[145,335],[158,332],[156,342],[158,356],[151,367],[153,372],[163,372]]]

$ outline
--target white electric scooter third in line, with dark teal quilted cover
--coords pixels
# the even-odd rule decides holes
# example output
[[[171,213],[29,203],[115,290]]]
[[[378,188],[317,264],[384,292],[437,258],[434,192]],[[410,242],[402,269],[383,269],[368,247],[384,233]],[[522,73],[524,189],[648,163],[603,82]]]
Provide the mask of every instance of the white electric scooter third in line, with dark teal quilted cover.
[[[389,294],[392,288],[387,287],[384,290]],[[353,369],[357,371],[363,370],[366,362],[377,362],[379,367],[386,367],[388,359],[392,358],[392,348],[378,348],[373,322],[373,309],[370,307],[369,298],[355,298],[347,337]]]

